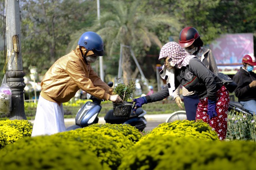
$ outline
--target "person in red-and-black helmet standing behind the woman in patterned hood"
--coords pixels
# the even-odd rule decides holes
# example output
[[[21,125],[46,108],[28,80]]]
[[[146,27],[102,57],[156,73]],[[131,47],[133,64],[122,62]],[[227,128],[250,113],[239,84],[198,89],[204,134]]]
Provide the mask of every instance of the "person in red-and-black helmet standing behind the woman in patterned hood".
[[[212,51],[203,47],[204,43],[200,38],[200,35],[196,28],[186,27],[181,30],[179,36],[179,44],[185,48],[190,55],[196,55],[198,59],[214,74],[218,73],[218,67],[215,61]],[[174,93],[174,99],[177,105],[182,108],[182,100],[180,98],[180,88],[177,88]],[[182,88],[182,95],[184,99],[184,106],[186,110],[187,120],[196,120],[196,108],[199,103],[198,95],[193,91],[188,91],[186,88]]]

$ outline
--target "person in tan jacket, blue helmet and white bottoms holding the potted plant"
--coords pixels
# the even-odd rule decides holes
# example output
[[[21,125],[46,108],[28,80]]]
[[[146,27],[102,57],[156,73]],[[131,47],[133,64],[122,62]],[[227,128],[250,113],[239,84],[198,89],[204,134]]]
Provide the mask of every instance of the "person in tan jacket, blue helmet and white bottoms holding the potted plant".
[[[79,89],[99,99],[123,102],[118,95],[112,95],[112,88],[98,77],[90,65],[102,55],[102,38],[95,32],[85,32],[76,49],[50,67],[41,82],[32,136],[65,131],[62,103],[70,101]]]

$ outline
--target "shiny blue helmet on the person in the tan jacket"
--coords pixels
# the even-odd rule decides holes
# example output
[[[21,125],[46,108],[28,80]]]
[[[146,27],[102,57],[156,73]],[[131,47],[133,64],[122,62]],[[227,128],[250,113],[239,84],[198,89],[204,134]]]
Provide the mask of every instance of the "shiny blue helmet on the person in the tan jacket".
[[[78,41],[78,45],[85,47],[98,56],[104,55],[104,43],[102,38],[95,32],[85,32]]]

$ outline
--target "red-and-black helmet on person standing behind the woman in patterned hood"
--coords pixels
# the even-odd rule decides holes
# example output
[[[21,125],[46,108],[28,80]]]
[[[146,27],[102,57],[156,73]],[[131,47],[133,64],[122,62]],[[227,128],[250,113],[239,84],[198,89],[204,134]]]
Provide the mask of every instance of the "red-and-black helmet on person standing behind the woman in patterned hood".
[[[179,37],[179,44],[181,47],[189,47],[194,43],[196,39],[200,40],[200,44],[203,44],[202,40],[200,39],[200,35],[196,28],[194,27],[186,27],[183,28],[180,32],[180,37]]]

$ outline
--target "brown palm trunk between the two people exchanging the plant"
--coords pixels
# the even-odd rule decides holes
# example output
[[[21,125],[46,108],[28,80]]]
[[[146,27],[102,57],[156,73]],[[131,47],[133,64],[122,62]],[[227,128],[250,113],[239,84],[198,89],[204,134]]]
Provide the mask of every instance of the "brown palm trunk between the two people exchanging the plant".
[[[128,81],[132,79],[130,48],[126,48],[126,47],[123,48],[122,55],[123,55],[123,63],[122,63],[123,81],[124,83],[128,83]]]

